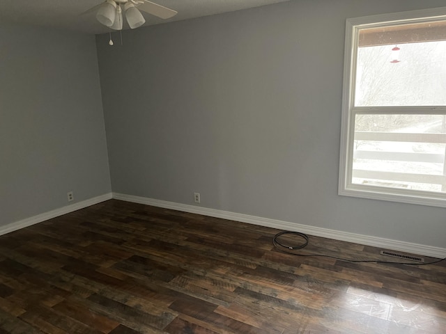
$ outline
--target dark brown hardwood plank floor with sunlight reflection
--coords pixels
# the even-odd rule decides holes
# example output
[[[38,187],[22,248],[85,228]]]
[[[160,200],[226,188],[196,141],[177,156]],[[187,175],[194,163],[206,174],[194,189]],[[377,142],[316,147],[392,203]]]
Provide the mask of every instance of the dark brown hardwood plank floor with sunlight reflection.
[[[109,200],[3,235],[0,334],[446,333],[445,261],[277,232]]]

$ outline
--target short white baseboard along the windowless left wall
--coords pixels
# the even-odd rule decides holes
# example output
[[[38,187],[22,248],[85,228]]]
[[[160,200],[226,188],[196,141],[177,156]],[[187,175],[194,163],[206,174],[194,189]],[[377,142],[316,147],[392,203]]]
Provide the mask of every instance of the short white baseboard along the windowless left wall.
[[[85,207],[89,207],[91,205],[95,205],[110,199],[112,199],[112,193],[105,193],[104,195],[93,197],[89,200],[82,200],[82,202],[77,202],[72,205],[67,205],[66,207],[61,207],[59,209],[54,209],[43,214],[38,214],[37,216],[25,218],[22,221],[16,221],[8,225],[0,226],[0,235],[20,230],[21,228],[26,228],[43,221],[47,221],[48,219],[62,216],[63,214],[69,214],[70,212],[84,209]]]

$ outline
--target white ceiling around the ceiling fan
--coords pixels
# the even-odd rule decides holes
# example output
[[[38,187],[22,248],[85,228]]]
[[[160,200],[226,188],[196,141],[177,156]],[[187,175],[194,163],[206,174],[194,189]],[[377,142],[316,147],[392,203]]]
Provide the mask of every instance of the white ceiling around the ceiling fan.
[[[0,0],[0,22],[13,22],[47,26],[55,29],[68,29],[84,33],[107,33],[95,13],[82,14],[104,0]],[[265,6],[290,0],[152,0],[162,6],[178,11],[171,19],[160,19],[143,13],[144,26],[173,22],[193,17]],[[128,29],[128,26],[124,26]]]

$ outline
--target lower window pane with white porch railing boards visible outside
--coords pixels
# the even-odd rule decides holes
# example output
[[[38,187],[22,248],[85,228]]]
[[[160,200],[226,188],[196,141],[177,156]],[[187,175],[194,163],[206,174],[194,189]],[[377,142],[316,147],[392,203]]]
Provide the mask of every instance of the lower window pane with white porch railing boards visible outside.
[[[356,115],[353,184],[446,192],[445,115]]]

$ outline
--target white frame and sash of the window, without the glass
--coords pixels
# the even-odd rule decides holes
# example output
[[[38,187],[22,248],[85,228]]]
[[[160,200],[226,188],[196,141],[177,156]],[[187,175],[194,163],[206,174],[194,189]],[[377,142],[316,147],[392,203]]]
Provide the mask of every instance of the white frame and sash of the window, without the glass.
[[[399,25],[403,23],[429,22],[446,19],[446,7],[413,10],[368,17],[356,17],[346,20],[346,40],[344,50],[344,84],[342,97],[341,143],[339,156],[339,187],[341,196],[404,202],[417,205],[446,207],[446,193],[413,191],[379,186],[353,184],[353,141],[355,135],[355,115],[358,113],[446,113],[446,106],[390,106],[369,107],[354,106],[355,74],[359,30],[379,26]]]

